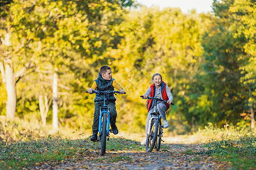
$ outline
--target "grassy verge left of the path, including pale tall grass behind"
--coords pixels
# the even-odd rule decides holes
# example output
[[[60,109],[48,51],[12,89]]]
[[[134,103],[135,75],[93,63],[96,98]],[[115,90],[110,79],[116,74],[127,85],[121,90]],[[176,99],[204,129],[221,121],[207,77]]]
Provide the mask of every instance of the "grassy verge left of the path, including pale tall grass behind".
[[[42,128],[38,122],[7,120],[0,116],[0,169],[22,169],[41,162],[59,162],[82,159],[100,150],[100,142],[90,142],[88,134],[71,129],[57,133]],[[143,150],[139,142],[125,138],[110,138],[106,150]],[[123,146],[126,146],[125,148]],[[110,162],[129,160],[125,156],[114,157]]]

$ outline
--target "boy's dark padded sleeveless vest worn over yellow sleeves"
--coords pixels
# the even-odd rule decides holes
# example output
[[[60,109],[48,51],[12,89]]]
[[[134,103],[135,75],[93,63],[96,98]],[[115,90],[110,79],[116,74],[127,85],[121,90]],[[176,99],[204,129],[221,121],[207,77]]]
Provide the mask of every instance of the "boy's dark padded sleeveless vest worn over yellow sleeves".
[[[103,83],[100,79],[96,79],[94,80],[97,83],[97,90],[98,91],[113,91],[114,87],[113,87],[113,78],[111,80],[109,80],[107,83]],[[117,99],[115,99],[114,94],[110,94],[108,97],[107,101],[115,101]],[[104,95],[102,94],[96,94],[96,97],[94,98],[94,102],[97,101],[104,101]]]

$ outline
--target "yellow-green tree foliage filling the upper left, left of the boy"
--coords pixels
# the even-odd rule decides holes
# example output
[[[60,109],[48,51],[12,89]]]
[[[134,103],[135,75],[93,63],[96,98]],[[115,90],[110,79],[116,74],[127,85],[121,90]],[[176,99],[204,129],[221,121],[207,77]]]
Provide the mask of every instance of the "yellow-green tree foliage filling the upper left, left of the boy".
[[[24,3],[16,0],[10,1],[1,8],[2,42],[6,42],[5,37],[8,37],[6,32],[11,28],[10,37],[12,42],[16,43],[11,48],[19,47],[14,50],[9,48],[10,45],[1,46],[1,52],[8,52],[10,49],[13,54],[11,56],[13,73],[15,70],[22,70],[22,72],[18,71],[19,74],[16,76],[16,82],[21,82],[17,88],[19,94],[24,100],[27,100],[26,97],[31,100],[42,100],[42,95],[51,99],[49,84],[52,79],[45,78],[57,74],[60,82],[58,85],[60,96],[58,95],[57,103],[63,106],[73,105],[73,108],[75,105],[81,105],[76,103],[76,97],[81,96],[79,91],[84,91],[84,88],[88,87],[88,82],[92,79],[88,73],[95,72],[94,67],[97,63],[103,63],[103,56],[106,56],[112,46],[117,45],[115,44],[117,37],[114,36],[115,27],[121,22],[120,16],[123,11],[132,5],[133,1],[130,0],[26,1]],[[10,55],[3,56],[3,54],[7,53],[2,53],[1,61],[10,58]],[[6,68],[3,63],[1,71]],[[32,68],[30,75],[24,76],[30,68]],[[80,82],[79,86],[77,82]],[[9,95],[10,99],[16,104],[16,83],[11,92],[15,95]],[[39,103],[41,103],[40,108],[43,108],[42,102]],[[16,107],[13,105],[8,108]],[[73,113],[71,114],[73,108],[60,109],[59,111],[64,112],[61,118],[74,116]],[[47,107],[44,111],[47,112]],[[80,112],[82,114],[82,111]],[[11,114],[14,116],[14,113],[15,110]],[[7,115],[9,114],[8,112]],[[42,115],[45,117],[45,113]]]

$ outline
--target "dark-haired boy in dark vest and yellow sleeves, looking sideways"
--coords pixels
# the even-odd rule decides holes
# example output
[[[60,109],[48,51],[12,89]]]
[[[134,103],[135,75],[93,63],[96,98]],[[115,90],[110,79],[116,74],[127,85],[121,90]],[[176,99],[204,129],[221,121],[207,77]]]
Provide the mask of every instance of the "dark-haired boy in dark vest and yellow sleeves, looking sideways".
[[[113,91],[114,88],[120,91],[121,94],[124,94],[125,91],[118,84],[115,79],[112,78],[112,71],[109,66],[102,66],[98,78],[94,80],[91,88],[88,89],[89,93],[92,93],[93,90],[98,91]],[[110,126],[114,134],[118,134],[117,126],[115,125],[117,119],[117,109],[115,108],[115,97],[114,94],[110,95],[107,100],[107,106],[110,108]],[[98,121],[100,116],[100,107],[103,107],[104,96],[101,94],[96,94],[94,98],[95,108],[93,114],[93,126],[92,131],[93,135],[90,138],[90,141],[98,140]]]

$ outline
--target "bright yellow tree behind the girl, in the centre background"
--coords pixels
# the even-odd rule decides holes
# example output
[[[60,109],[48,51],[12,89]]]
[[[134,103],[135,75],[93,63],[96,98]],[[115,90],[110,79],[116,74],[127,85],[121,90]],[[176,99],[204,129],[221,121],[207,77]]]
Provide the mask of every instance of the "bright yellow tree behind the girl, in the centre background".
[[[147,115],[142,114],[146,113],[144,101],[138,98],[150,86],[154,73],[163,75],[163,80],[174,94],[175,106],[178,105],[171,110],[168,118],[172,118],[170,121],[174,124],[177,119],[181,124],[182,121],[184,125],[188,124],[191,117],[182,111],[187,111],[185,102],[189,101],[181,102],[189,98],[187,93],[194,87],[191,84],[196,82],[193,75],[201,61],[200,40],[208,18],[209,14],[199,15],[195,11],[185,15],[179,8],[164,8],[162,11],[159,8],[142,8],[125,16],[125,22],[119,26],[119,35],[123,40],[118,49],[110,53],[115,58],[114,70],[118,71],[115,76],[122,77],[121,83],[130,94],[126,101],[134,106],[120,104],[123,106],[121,110],[125,111],[119,114],[122,121],[123,117],[129,117],[122,126],[143,128]],[[127,116],[129,113],[134,114]],[[130,119],[137,121],[131,124]],[[193,123],[189,122],[190,125]]]

